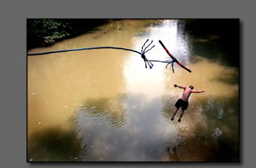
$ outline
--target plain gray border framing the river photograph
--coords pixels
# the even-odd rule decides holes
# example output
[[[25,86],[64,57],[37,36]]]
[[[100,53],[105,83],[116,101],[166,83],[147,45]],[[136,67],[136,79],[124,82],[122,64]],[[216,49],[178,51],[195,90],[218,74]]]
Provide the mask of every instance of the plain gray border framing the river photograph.
[[[255,3],[238,0],[1,1],[0,167],[254,167]],[[26,163],[26,18],[240,18],[239,164]],[[236,36],[236,35],[235,35]]]

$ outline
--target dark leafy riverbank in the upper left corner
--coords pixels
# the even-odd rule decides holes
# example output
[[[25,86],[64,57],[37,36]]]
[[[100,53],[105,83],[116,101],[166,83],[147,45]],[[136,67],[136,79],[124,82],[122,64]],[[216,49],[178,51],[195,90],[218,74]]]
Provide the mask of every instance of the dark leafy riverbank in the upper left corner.
[[[57,41],[93,31],[109,19],[28,19],[27,49],[47,47]]]

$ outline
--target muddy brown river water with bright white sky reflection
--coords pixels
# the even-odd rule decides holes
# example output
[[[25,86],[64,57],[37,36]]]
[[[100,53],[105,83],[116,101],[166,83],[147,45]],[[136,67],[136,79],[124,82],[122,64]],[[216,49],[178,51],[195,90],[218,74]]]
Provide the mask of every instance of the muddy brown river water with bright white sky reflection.
[[[90,33],[30,49],[124,47],[174,64],[145,68],[135,52],[92,49],[28,57],[28,161],[238,161],[238,66],[217,39],[193,36],[182,20],[112,20]],[[234,34],[238,36],[238,34]],[[150,42],[149,41],[149,42]],[[149,42],[147,44],[149,44]],[[146,45],[147,46],[147,45]],[[223,61],[225,60],[225,61]],[[182,121],[170,120],[182,89]]]

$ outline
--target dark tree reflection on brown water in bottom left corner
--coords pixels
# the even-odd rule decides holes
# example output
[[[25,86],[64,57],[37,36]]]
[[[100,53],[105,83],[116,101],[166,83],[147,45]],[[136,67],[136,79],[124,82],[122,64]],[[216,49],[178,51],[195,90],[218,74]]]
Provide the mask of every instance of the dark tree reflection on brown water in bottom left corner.
[[[74,119],[69,121],[74,123]],[[47,127],[28,138],[28,161],[81,161],[87,153],[87,144],[82,143],[76,126]]]

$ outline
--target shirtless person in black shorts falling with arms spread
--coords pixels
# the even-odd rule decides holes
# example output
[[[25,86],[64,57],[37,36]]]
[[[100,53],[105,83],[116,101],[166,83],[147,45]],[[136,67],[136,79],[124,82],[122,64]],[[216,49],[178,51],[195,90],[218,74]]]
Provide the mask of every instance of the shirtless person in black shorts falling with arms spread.
[[[190,97],[190,94],[191,93],[202,93],[202,92],[205,91],[205,89],[203,89],[203,90],[193,90],[194,87],[192,85],[190,85],[190,87],[180,87],[177,84],[174,84],[174,87],[179,87],[181,89],[184,89],[184,91],[182,93],[182,97],[177,101],[177,103],[175,103],[176,110],[174,111],[174,114],[171,116],[171,121],[173,121],[175,114],[177,113],[179,108],[182,107],[182,111],[180,112],[179,119],[178,119],[178,121],[180,122],[181,119],[182,119],[184,111],[187,109],[188,98]]]

